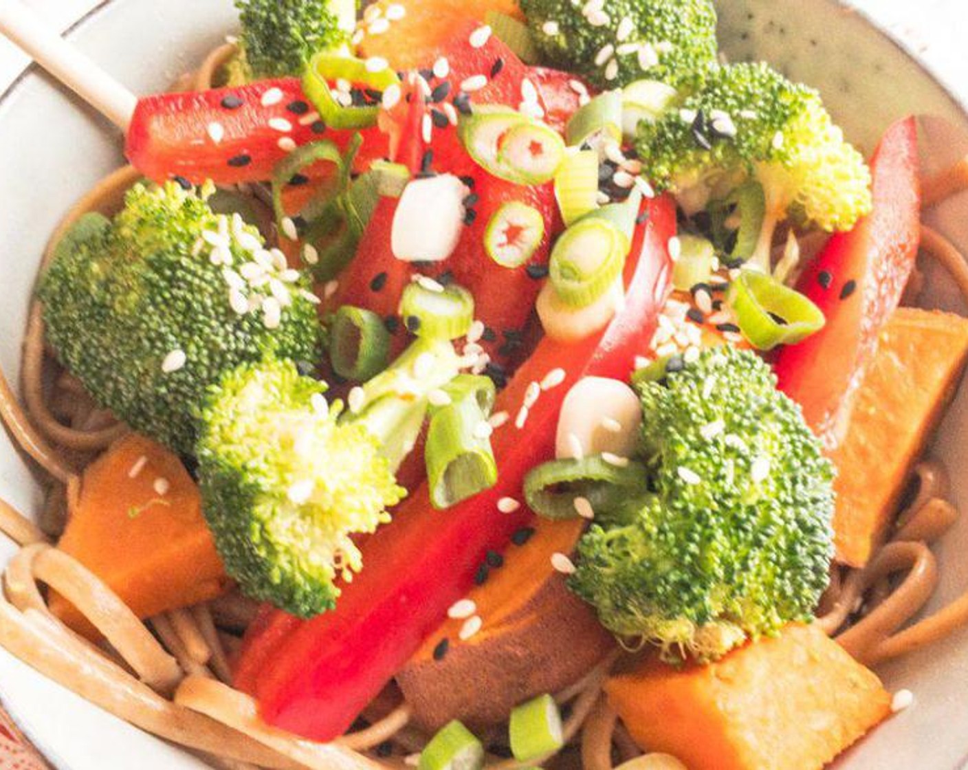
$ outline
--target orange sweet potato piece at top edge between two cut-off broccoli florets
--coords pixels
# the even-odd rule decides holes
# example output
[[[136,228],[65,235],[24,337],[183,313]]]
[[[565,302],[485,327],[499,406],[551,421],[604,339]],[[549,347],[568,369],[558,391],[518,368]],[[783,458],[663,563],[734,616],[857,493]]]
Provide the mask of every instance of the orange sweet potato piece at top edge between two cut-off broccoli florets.
[[[381,18],[391,18],[386,15],[390,6],[402,6],[405,14],[390,20],[386,32],[380,31],[382,23],[365,24],[368,32],[360,50],[364,56],[381,56],[398,70],[430,66],[468,19],[483,23],[491,11],[521,17],[517,0],[379,0],[371,8],[378,8]]]

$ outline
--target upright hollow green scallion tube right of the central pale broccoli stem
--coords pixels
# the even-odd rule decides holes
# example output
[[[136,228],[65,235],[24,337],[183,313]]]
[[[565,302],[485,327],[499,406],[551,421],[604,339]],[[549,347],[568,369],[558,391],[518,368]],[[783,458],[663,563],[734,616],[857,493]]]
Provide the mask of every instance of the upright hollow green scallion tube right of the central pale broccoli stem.
[[[427,483],[434,508],[450,508],[498,480],[487,421],[494,404],[488,378],[469,377],[443,388],[450,404],[436,407],[427,431]]]

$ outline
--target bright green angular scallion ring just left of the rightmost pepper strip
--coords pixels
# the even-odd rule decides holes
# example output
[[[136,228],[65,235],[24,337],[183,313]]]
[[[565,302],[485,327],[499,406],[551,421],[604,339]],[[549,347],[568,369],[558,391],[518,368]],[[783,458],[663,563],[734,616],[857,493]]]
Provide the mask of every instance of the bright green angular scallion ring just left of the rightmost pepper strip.
[[[801,342],[826,323],[823,311],[806,296],[758,270],[742,270],[726,301],[742,335],[761,351]]]

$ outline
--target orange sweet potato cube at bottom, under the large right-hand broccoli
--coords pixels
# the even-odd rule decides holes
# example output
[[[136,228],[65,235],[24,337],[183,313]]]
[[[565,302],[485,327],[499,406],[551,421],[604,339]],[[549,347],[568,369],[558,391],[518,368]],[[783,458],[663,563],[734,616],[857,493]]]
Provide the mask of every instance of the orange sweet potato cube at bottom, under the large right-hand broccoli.
[[[877,676],[813,626],[706,666],[650,659],[605,691],[636,743],[690,770],[819,770],[891,713]]]

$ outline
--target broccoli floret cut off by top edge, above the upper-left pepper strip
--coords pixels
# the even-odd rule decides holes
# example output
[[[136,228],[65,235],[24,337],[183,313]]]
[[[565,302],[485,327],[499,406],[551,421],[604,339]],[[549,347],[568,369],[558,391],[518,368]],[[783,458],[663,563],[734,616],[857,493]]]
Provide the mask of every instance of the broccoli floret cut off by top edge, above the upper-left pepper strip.
[[[242,22],[229,81],[302,75],[320,50],[348,46],[356,0],[235,0]]]

